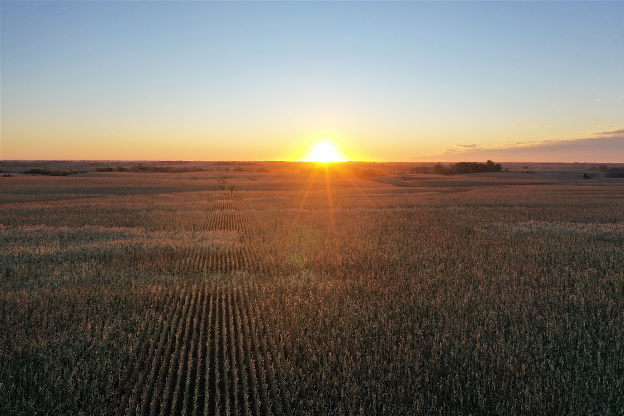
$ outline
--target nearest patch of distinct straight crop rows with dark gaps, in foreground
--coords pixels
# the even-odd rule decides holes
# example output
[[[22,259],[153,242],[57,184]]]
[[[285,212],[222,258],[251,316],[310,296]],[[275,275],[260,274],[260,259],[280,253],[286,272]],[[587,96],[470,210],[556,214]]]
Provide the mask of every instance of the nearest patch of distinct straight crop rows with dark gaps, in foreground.
[[[146,319],[134,365],[112,380],[104,408],[127,416],[293,414],[284,340],[256,290],[213,283],[170,292],[163,312]]]

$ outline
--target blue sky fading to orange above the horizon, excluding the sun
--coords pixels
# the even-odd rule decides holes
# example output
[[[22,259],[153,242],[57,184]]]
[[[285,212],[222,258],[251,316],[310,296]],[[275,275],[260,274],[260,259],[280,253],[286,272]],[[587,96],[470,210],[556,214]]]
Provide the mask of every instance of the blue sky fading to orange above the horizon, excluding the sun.
[[[2,1],[0,157],[624,162],[624,2]]]

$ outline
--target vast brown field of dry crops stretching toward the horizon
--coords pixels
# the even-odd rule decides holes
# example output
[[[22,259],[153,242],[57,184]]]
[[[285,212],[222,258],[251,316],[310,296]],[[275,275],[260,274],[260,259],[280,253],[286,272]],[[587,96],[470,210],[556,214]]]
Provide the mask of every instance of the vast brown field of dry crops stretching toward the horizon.
[[[624,179],[89,172],[1,198],[2,414],[624,414]]]

